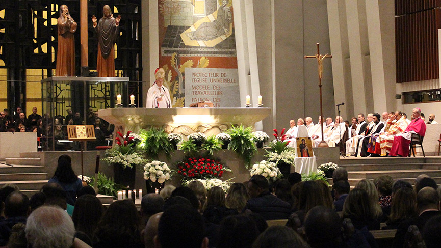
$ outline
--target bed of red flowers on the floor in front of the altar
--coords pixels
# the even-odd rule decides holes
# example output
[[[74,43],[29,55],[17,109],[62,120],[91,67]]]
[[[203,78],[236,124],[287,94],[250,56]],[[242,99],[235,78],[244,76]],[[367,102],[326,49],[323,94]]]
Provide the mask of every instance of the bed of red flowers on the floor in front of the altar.
[[[231,170],[218,160],[191,157],[177,162],[175,172],[182,177],[183,181],[188,181],[191,179],[220,178],[224,172],[231,172]]]

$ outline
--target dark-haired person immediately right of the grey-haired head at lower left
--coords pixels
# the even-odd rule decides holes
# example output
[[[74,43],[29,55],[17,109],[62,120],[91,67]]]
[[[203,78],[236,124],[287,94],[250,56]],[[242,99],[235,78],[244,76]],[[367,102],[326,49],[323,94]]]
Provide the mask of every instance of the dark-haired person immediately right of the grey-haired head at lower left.
[[[101,201],[93,195],[84,195],[77,199],[73,209],[72,221],[75,230],[83,232],[92,240],[93,233],[103,213]]]

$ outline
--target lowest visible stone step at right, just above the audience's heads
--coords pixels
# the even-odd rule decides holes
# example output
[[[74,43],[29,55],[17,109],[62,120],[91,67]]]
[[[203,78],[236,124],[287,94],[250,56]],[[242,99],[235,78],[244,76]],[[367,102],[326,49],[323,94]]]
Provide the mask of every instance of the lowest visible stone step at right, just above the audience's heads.
[[[417,178],[421,174],[427,174],[430,177],[441,177],[439,170],[390,170],[390,171],[349,171],[348,178],[351,179],[374,179],[379,176],[389,175],[392,178]]]

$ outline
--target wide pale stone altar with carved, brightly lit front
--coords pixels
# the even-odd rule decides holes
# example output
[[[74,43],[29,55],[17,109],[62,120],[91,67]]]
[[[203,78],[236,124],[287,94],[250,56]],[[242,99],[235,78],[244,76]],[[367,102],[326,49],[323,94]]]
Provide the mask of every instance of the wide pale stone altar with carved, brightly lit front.
[[[168,133],[187,136],[201,132],[207,136],[221,133],[231,125],[254,128],[256,122],[271,114],[271,108],[108,108],[98,116],[122,132],[161,127]]]

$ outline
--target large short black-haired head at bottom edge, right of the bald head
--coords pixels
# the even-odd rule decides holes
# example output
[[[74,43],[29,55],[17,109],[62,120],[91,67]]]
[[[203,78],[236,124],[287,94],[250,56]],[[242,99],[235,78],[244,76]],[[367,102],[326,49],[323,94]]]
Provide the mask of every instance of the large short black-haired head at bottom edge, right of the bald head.
[[[154,238],[155,247],[206,248],[208,244],[203,217],[197,209],[175,205],[164,211],[158,225],[158,236]]]

